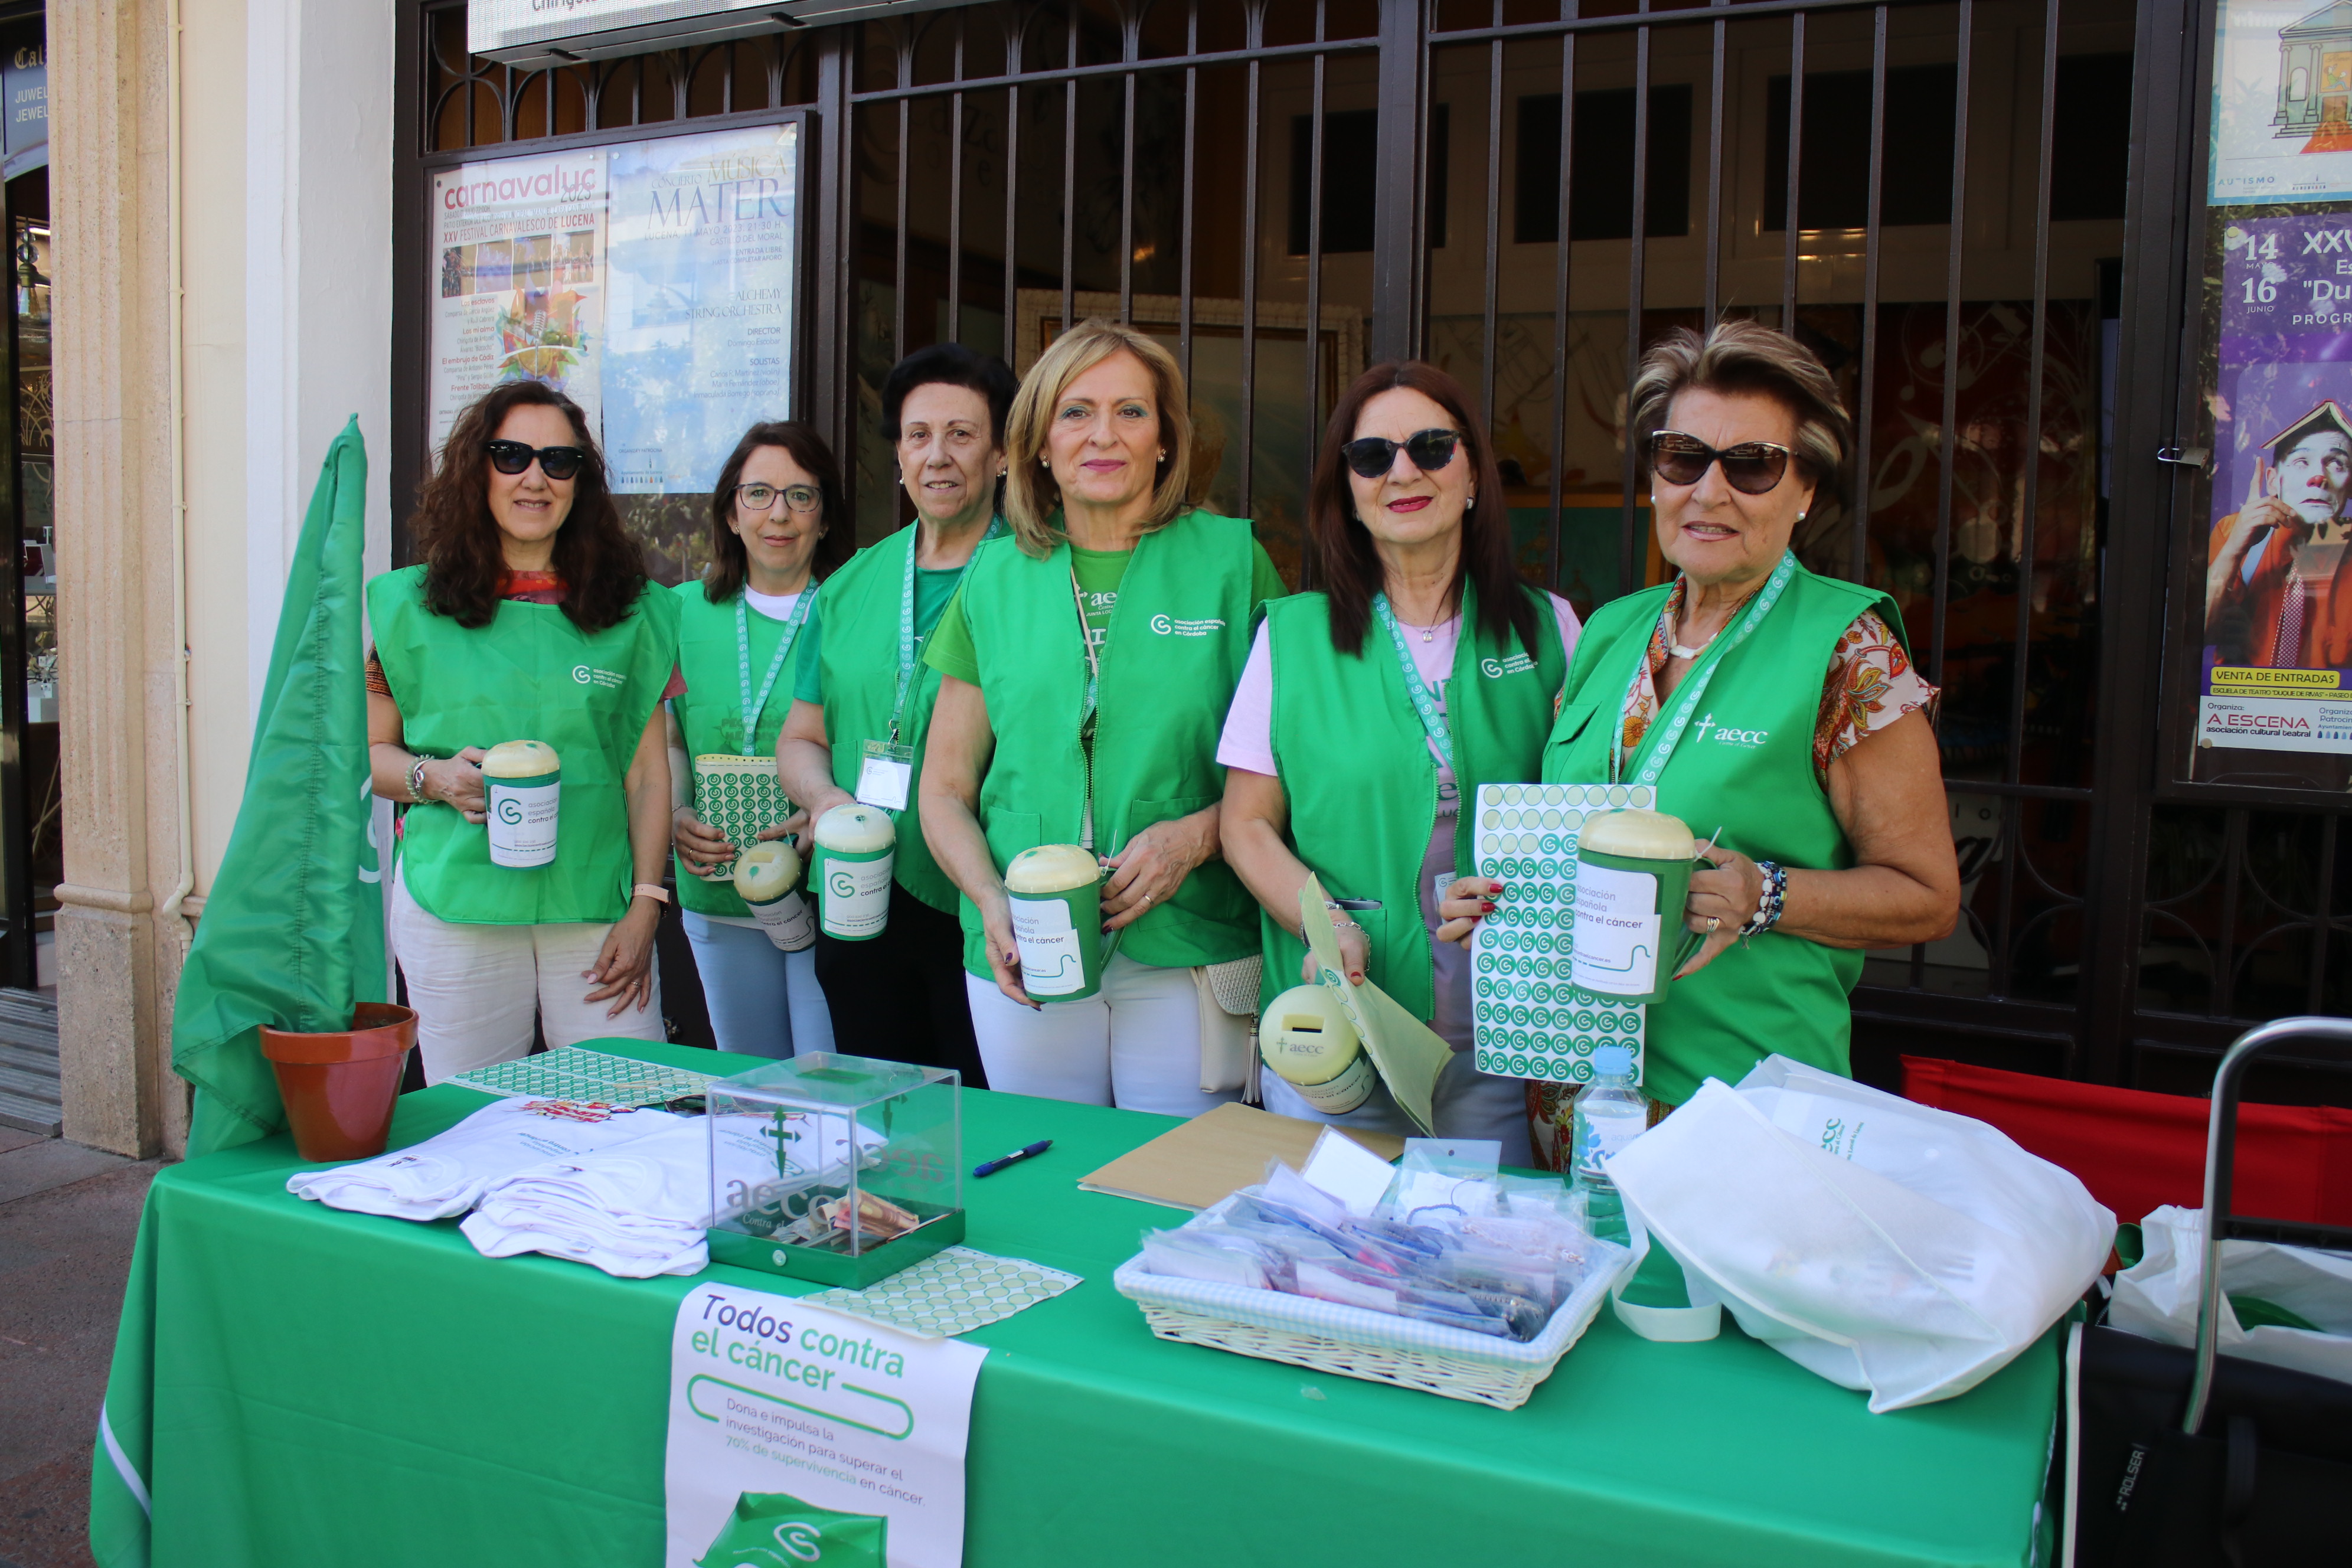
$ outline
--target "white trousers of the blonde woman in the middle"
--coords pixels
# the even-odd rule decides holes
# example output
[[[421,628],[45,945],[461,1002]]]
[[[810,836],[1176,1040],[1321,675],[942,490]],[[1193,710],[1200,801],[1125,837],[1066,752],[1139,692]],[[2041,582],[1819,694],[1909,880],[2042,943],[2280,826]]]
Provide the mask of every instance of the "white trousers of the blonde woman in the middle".
[[[1249,1020],[1228,1018],[1190,969],[1157,969],[1115,952],[1103,966],[1103,990],[1084,1001],[1047,1001],[1035,1013],[971,973],[964,994],[990,1088],[1164,1117],[1197,1117],[1240,1098],[1240,1091],[1202,1093],[1200,1034],[1204,1027],[1247,1034]]]

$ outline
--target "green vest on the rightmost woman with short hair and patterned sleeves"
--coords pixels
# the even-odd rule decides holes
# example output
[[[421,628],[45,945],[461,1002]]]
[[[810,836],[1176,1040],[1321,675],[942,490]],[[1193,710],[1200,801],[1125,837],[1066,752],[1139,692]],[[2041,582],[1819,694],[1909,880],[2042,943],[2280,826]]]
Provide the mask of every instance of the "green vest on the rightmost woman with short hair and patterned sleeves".
[[[1543,748],[1543,783],[1606,783],[1609,731],[1623,715],[1635,661],[1649,646],[1668,592],[1670,585],[1661,585],[1592,611],[1576,644],[1569,696]],[[1658,776],[1658,811],[1679,816],[1700,839],[1722,827],[1722,844],[1752,860],[1790,870],[1853,865],[1853,846],[1813,776],[1813,722],[1837,639],[1865,609],[1903,635],[1903,618],[1884,592],[1799,567],[1764,623],[1722,656],[1722,670]],[[1672,698],[1661,712],[1665,708]],[[1625,757],[1628,776],[1663,729],[1653,724],[1642,750]],[[1700,1081],[1738,1084],[1773,1051],[1825,1072],[1851,1072],[1846,999],[1860,973],[1858,950],[1783,931],[1733,943],[1649,1006],[1642,1088],[1682,1105]]]

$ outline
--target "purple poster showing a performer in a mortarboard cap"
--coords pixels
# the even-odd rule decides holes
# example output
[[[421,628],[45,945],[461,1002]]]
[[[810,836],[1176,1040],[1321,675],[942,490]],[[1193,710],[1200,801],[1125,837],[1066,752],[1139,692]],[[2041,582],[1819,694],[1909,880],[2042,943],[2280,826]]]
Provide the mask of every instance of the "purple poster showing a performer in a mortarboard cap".
[[[2352,752],[2352,214],[2223,233],[2197,743]]]

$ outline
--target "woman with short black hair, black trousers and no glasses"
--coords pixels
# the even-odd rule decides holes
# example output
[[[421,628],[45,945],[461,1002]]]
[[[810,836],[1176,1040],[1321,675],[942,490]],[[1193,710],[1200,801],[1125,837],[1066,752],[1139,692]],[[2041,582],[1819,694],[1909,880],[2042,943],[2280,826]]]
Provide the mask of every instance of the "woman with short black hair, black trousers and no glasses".
[[[922,649],[981,541],[1004,534],[1004,418],[1018,388],[1002,360],[962,343],[931,343],[891,367],[882,440],[915,522],[826,578],[823,625],[804,639],[776,745],[783,785],[811,816],[863,799],[898,823],[882,933],[861,943],[816,933],[816,978],[842,1016],[856,1009],[858,1053],[955,1067],[974,1088],[988,1088],[988,1072],[964,999],[957,893],[922,842],[915,799],[938,703],[938,670]]]

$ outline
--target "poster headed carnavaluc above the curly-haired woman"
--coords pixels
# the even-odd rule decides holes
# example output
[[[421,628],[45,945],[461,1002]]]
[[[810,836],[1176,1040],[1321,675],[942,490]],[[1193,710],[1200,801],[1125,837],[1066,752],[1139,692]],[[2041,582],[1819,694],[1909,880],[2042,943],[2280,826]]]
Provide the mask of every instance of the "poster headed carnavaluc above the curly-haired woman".
[[[433,447],[501,381],[546,381],[597,418],[604,148],[433,176]]]

